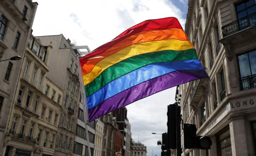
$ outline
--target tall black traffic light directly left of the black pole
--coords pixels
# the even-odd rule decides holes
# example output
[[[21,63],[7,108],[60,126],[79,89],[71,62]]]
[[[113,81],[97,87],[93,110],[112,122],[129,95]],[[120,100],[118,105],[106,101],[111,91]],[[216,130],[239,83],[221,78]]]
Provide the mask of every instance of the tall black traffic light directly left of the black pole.
[[[168,146],[171,149],[176,149],[176,107],[177,105],[168,105],[167,109],[167,135]]]

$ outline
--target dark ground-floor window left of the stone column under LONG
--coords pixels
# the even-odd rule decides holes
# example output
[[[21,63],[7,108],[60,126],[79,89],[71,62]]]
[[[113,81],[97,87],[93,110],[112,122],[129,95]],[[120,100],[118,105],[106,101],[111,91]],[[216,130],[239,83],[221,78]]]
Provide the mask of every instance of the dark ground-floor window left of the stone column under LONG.
[[[229,127],[225,127],[216,135],[218,156],[232,156]]]

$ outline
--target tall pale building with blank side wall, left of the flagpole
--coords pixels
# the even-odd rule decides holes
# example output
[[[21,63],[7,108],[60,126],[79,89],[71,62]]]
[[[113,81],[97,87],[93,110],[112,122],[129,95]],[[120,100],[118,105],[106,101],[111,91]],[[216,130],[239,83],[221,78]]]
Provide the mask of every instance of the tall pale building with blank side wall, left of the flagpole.
[[[72,156],[75,151],[77,113],[80,101],[80,82],[77,49],[69,39],[61,35],[38,36],[43,45],[51,45],[48,58],[48,78],[63,91],[58,134],[56,135],[56,156]],[[58,63],[56,63],[58,62]]]

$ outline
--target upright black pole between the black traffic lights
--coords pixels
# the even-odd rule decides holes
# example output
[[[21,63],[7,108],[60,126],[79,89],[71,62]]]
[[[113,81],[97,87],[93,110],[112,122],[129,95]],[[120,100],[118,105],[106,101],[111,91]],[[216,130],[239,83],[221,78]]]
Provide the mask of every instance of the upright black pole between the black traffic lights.
[[[180,106],[176,108],[176,146],[177,156],[181,156],[181,138],[180,138]]]

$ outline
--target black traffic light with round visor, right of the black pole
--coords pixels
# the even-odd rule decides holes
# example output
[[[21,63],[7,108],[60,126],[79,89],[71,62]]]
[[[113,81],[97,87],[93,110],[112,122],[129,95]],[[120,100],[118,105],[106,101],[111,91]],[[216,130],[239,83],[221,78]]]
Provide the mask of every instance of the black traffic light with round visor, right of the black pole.
[[[210,149],[209,136],[196,136],[196,125],[184,123],[184,148]]]

